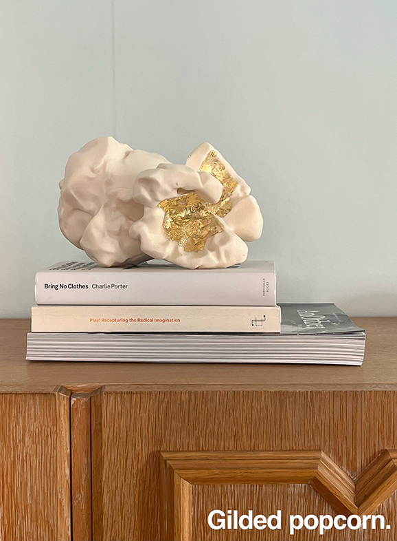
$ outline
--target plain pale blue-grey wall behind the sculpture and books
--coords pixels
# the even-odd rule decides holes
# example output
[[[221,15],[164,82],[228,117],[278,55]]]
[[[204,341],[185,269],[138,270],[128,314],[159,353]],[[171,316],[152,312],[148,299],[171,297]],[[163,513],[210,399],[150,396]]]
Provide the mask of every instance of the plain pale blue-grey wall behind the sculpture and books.
[[[0,316],[58,231],[69,154],[111,134],[184,162],[203,140],[264,214],[280,301],[397,315],[397,3],[8,0],[0,17]]]

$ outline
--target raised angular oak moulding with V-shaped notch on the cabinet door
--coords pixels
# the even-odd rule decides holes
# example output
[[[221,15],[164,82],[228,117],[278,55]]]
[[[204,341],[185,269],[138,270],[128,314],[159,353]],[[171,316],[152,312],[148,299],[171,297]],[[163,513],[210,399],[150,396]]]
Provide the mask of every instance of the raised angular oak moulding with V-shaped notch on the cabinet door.
[[[339,513],[370,514],[397,489],[397,451],[353,480],[322,451],[162,452],[161,539],[192,539],[192,485],[310,485]]]

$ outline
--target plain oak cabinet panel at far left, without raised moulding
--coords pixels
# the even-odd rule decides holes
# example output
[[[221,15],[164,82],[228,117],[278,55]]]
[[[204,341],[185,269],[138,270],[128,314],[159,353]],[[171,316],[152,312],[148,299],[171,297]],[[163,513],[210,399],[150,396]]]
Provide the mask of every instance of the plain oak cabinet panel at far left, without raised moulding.
[[[0,539],[70,540],[69,394],[0,393]]]

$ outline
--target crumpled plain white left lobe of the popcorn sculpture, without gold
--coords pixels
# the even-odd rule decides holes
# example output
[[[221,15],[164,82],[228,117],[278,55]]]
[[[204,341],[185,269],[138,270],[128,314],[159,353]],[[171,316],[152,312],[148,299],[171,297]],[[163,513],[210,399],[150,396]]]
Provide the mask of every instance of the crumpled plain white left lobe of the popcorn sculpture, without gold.
[[[87,142],[70,156],[59,184],[60,230],[100,266],[150,259],[128,234],[144,212],[133,200],[133,185],[142,170],[164,162],[159,154],[133,150],[113,137]]]

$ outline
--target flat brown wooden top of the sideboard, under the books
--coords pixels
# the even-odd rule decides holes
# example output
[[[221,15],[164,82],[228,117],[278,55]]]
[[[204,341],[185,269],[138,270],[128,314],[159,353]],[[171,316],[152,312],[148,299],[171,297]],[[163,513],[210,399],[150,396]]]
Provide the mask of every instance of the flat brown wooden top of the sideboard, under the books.
[[[354,318],[367,330],[363,366],[207,363],[61,363],[25,361],[28,319],[0,321],[0,390],[56,385],[126,385],[139,389],[397,390],[397,318]]]

